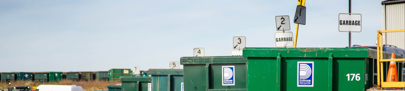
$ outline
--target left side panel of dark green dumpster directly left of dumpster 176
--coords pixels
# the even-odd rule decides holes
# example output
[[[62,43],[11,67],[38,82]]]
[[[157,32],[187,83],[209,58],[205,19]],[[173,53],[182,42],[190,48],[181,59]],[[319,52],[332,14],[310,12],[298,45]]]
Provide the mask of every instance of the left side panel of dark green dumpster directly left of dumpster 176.
[[[206,91],[205,64],[183,65],[184,91]]]

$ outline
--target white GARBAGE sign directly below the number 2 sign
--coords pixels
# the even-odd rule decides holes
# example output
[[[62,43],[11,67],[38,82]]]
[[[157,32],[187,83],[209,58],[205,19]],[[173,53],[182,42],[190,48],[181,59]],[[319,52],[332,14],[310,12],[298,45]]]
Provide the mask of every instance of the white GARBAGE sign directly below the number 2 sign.
[[[276,47],[291,47],[294,46],[294,35],[292,32],[276,32],[274,33]]]

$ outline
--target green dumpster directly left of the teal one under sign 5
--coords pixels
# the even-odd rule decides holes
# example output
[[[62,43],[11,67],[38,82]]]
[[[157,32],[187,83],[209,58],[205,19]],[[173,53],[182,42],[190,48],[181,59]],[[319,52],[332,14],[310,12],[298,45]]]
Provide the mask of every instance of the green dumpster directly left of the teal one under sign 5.
[[[119,81],[122,82],[122,91],[151,91],[151,77],[149,76],[121,76]]]

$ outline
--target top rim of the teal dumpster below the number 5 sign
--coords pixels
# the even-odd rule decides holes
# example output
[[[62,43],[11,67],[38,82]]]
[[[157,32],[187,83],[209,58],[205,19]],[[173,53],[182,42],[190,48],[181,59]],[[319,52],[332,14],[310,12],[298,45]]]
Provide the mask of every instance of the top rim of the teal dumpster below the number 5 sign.
[[[149,69],[149,75],[183,75],[183,69]]]

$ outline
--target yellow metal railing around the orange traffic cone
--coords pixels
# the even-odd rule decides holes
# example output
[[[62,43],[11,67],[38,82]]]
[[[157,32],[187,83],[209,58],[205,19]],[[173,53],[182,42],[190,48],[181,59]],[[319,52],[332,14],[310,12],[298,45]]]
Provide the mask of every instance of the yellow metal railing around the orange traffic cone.
[[[377,31],[377,85],[380,87],[405,87],[405,82],[384,82],[384,61],[405,61],[405,59],[383,59],[382,33],[383,32],[405,32],[405,30],[379,30]],[[380,70],[380,71],[378,71]],[[402,74],[400,74],[402,75]]]

